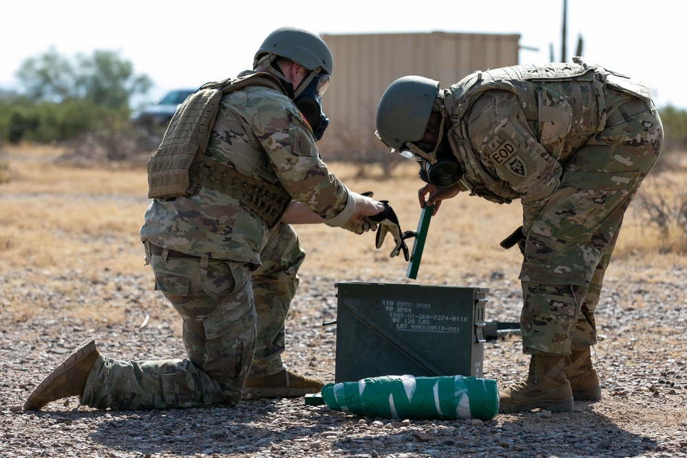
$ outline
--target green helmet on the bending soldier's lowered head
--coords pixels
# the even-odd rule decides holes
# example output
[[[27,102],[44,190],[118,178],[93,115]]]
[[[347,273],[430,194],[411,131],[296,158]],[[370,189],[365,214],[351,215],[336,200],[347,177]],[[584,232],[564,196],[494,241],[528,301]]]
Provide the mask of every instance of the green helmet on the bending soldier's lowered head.
[[[407,141],[421,139],[438,94],[439,82],[423,76],[392,82],[377,107],[377,137],[396,151]]]

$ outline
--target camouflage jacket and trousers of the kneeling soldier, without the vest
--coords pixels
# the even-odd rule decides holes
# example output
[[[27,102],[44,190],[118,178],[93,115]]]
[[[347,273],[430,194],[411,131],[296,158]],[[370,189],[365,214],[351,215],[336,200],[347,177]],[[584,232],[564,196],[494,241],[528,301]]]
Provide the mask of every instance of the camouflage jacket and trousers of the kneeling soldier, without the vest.
[[[349,192],[319,159],[310,127],[291,99],[273,89],[249,86],[225,95],[206,154],[241,174],[282,185],[328,225],[351,216]],[[232,405],[249,375],[285,368],[284,320],[305,256],[290,225],[270,229],[233,196],[200,186],[190,196],[155,199],[140,235],[155,289],[183,318],[188,357],[123,362],[100,355],[83,404]],[[161,253],[151,254],[151,246]]]

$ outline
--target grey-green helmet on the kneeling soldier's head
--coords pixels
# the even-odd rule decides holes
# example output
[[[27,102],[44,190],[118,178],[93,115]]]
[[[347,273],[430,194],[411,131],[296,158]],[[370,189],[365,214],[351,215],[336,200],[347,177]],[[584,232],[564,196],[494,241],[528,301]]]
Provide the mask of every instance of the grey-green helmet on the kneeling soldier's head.
[[[269,34],[256,52],[254,68],[265,54],[285,57],[308,70],[322,67],[330,75],[333,71],[332,51],[324,40],[313,32],[296,27],[280,27]]]

